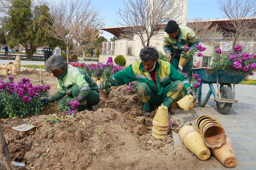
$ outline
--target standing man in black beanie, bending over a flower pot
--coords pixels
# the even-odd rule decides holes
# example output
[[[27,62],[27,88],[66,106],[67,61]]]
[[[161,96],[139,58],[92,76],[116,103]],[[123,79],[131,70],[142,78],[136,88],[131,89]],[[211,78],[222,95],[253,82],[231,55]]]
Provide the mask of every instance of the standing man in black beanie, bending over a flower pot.
[[[174,68],[178,69],[181,52],[185,46],[189,46],[188,54],[199,44],[198,38],[191,28],[179,26],[176,21],[169,21],[164,33],[164,51]],[[183,67],[182,71],[187,73],[188,78],[192,78],[193,58]]]

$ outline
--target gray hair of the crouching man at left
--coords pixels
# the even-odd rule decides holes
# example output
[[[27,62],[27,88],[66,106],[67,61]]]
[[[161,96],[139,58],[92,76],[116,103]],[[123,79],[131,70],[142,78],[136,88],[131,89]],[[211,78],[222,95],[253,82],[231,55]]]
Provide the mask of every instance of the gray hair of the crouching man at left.
[[[63,66],[66,68],[67,65],[68,65],[68,63],[61,55],[53,54],[45,62],[45,71],[47,71],[47,72],[61,71],[61,68]]]

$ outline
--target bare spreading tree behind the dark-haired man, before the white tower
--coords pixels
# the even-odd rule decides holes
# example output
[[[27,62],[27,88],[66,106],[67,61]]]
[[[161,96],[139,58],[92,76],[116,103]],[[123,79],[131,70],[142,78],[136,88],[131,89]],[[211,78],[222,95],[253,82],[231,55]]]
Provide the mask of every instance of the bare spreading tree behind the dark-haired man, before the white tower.
[[[183,9],[182,3],[175,5],[174,0],[123,0],[124,10],[119,8],[117,15],[123,20],[117,21],[124,34],[137,34],[143,46],[150,45],[150,38],[170,20],[176,20]]]

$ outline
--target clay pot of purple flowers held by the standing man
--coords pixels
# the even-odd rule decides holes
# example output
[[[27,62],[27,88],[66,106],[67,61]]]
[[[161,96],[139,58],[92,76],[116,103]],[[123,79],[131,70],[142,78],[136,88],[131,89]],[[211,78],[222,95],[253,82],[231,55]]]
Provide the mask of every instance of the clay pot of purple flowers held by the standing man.
[[[190,52],[188,52],[189,48],[190,48],[189,46],[185,46],[185,49],[181,52],[181,58],[180,58],[179,65],[182,67],[189,60],[191,60],[195,54],[197,54],[198,57],[203,56],[203,54],[201,52],[206,50],[206,48],[203,47],[201,44],[197,45],[196,48],[194,48],[193,50],[190,50]]]

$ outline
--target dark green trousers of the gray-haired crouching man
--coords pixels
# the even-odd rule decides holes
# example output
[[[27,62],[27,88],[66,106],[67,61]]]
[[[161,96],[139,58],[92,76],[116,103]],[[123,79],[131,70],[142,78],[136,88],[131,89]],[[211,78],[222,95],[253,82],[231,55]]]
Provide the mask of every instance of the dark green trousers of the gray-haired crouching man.
[[[91,91],[91,93],[78,106],[78,108],[77,108],[78,111],[85,110],[85,109],[87,109],[87,107],[95,106],[96,104],[98,104],[101,101],[100,95],[98,92],[96,92],[95,90],[91,90],[91,89],[90,89],[90,91]],[[60,104],[62,101],[66,100],[66,99],[77,98],[80,93],[80,88],[76,84],[74,84],[72,86],[71,92],[72,92],[72,95],[59,99],[59,101],[57,101],[57,104]]]

